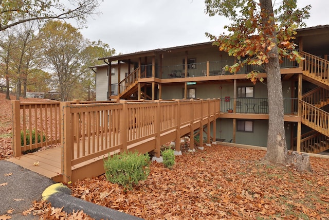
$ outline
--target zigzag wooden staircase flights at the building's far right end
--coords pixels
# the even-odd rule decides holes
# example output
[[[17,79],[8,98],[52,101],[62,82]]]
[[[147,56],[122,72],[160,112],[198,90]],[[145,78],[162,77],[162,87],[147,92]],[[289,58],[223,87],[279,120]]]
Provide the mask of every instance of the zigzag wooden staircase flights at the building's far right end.
[[[303,79],[319,86],[299,100],[302,123],[314,130],[302,135],[301,151],[319,153],[329,149],[329,113],[323,110],[329,104],[329,61],[303,51],[300,54]]]

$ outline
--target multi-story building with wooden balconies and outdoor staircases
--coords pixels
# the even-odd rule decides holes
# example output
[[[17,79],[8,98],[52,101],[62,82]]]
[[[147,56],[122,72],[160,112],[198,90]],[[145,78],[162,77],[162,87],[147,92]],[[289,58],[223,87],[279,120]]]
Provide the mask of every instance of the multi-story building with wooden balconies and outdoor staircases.
[[[329,149],[329,25],[297,30],[300,64],[283,59],[281,76],[288,149],[319,153]],[[216,137],[233,143],[266,146],[268,94],[266,73],[238,62],[211,42],[105,57],[96,68],[97,100],[221,98]],[[264,82],[246,79],[259,70]],[[111,77],[108,77],[111,72]],[[110,92],[111,91],[111,92]]]

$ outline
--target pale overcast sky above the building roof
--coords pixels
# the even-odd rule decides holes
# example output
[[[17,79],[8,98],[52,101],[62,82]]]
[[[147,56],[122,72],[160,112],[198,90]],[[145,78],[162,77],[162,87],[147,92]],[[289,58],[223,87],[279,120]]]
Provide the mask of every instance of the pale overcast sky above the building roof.
[[[307,4],[312,5],[307,27],[329,24],[328,0],[298,0],[298,7]],[[204,0],[104,0],[99,10],[80,31],[117,54],[209,42],[205,32],[219,35],[230,22],[206,15]]]

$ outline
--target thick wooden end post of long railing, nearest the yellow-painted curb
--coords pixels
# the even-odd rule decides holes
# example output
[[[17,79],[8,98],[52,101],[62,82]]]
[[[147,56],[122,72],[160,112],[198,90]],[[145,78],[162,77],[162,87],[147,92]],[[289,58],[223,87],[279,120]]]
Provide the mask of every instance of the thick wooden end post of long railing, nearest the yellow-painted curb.
[[[62,132],[62,160],[61,160],[61,171],[62,181],[70,182],[72,177],[72,166],[71,166],[71,152],[72,152],[72,136],[73,131],[71,130],[71,109],[70,102],[61,102],[60,104],[61,118],[61,132]]]

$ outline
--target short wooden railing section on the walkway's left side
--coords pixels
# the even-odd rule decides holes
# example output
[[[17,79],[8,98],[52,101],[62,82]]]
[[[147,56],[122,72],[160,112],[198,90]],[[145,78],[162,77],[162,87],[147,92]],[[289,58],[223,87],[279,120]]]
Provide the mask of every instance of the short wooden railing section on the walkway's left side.
[[[15,157],[60,142],[60,102],[13,100],[12,107]]]

